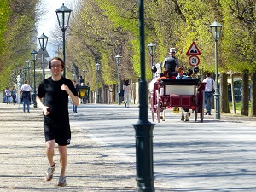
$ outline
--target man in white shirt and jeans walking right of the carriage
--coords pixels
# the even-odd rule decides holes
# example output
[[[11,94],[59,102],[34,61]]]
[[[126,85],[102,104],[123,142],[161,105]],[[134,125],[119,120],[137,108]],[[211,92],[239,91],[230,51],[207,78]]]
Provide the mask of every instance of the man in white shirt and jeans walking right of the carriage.
[[[211,115],[212,111],[212,94],[215,90],[214,81],[211,78],[211,73],[207,73],[207,78],[204,79],[202,82],[207,83],[205,87],[205,108],[207,110],[208,115]]]

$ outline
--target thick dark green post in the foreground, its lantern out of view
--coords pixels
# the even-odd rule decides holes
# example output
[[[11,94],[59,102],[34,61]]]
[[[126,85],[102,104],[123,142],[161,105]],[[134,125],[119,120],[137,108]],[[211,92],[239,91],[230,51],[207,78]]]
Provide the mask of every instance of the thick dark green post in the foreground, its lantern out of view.
[[[139,119],[134,124],[136,131],[136,169],[137,192],[154,192],[153,172],[153,128],[148,121],[148,85],[145,78],[145,32],[144,32],[144,3],[139,5],[140,31],[140,63],[141,77],[139,82]]]

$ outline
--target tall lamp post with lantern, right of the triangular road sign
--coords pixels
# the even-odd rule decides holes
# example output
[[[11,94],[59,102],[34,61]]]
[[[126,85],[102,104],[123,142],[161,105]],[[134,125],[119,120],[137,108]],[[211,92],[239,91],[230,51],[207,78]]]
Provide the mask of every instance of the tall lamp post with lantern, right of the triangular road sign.
[[[222,25],[217,21],[214,21],[212,25],[209,26],[212,32],[212,37],[215,41],[215,93],[214,93],[214,119],[220,119],[220,102],[219,102],[219,89],[218,89],[218,51],[217,42],[220,37],[220,32]]]

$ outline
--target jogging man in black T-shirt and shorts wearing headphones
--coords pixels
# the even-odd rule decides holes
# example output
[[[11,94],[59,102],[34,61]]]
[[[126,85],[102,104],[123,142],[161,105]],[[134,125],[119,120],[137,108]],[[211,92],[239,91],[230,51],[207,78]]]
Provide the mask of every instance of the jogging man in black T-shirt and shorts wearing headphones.
[[[65,64],[59,57],[49,61],[51,77],[44,79],[38,87],[37,103],[44,113],[44,137],[49,166],[44,179],[50,181],[55,171],[55,143],[60,154],[61,174],[57,186],[66,186],[67,145],[70,144],[71,131],[68,115],[68,96],[74,105],[79,105],[78,92],[72,81],[61,76]],[[44,97],[44,103],[42,98]]]

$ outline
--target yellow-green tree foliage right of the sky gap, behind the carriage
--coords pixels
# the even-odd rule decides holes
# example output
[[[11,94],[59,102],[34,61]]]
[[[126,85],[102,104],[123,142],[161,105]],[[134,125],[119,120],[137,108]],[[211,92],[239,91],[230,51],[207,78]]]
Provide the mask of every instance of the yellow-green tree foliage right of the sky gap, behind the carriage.
[[[252,8],[253,0],[242,3],[236,0],[144,0],[146,78],[151,79],[147,48],[150,42],[157,45],[155,63],[162,62],[168,50],[176,47],[181,63],[190,67],[186,52],[195,41],[201,50],[199,67],[214,72],[214,40],[209,32],[214,20],[223,25],[218,39],[218,70],[255,69],[256,32],[253,30],[256,22]],[[96,78],[95,63],[100,62],[102,84],[117,84],[114,56],[122,55],[121,78],[137,80],[141,73],[138,21],[137,0],[82,1],[70,26],[69,58],[76,61],[79,70],[84,67],[90,70],[92,79]],[[96,83],[92,84],[92,89],[96,88]]]

